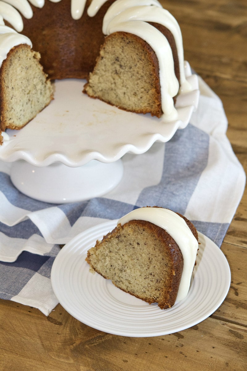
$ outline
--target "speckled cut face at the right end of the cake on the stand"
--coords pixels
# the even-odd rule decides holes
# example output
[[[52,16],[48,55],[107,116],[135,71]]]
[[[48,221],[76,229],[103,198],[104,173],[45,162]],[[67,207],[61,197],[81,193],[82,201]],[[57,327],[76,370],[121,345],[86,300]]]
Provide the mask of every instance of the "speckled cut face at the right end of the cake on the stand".
[[[158,62],[136,35],[106,37],[84,92],[127,111],[161,115]]]

